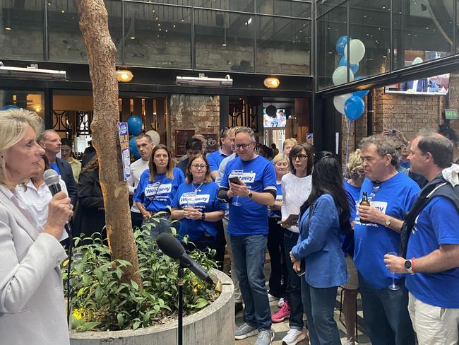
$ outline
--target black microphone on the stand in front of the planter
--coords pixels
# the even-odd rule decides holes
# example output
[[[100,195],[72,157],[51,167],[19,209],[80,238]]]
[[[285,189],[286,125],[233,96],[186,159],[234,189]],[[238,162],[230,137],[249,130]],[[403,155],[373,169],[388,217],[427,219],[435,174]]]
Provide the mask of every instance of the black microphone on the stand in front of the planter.
[[[165,253],[165,255],[171,257],[172,259],[179,260],[182,267],[190,269],[194,274],[196,274],[196,276],[198,276],[199,279],[210,285],[215,284],[203,267],[186,254],[183,245],[181,245],[180,242],[172,235],[168,233],[160,233],[160,235],[156,238],[156,242],[158,247],[160,247],[160,250]]]

